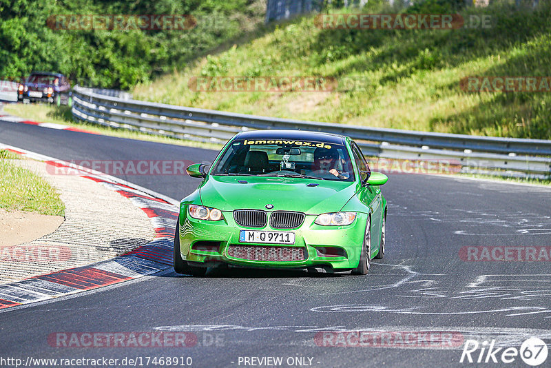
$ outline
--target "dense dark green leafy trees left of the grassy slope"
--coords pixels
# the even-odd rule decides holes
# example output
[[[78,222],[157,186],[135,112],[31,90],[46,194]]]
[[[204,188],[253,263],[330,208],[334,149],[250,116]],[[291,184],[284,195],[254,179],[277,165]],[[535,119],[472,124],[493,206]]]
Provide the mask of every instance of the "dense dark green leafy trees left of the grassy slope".
[[[257,28],[263,12],[261,0],[0,0],[0,78],[19,79],[46,70],[66,74],[81,85],[128,89]],[[67,14],[191,14],[196,27],[56,29],[70,24],[59,21],[70,18],[57,17]]]

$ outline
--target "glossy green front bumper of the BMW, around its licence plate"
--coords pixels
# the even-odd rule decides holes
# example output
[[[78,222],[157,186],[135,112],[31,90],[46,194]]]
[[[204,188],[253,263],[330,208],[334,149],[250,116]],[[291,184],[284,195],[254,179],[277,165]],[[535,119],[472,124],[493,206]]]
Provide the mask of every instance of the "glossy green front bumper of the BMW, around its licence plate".
[[[222,221],[203,221],[187,215],[187,205],[180,208],[180,254],[196,266],[227,263],[243,267],[304,269],[309,267],[331,268],[342,271],[357,267],[364,239],[367,214],[358,213],[355,221],[347,226],[321,226],[314,223],[316,215],[306,215],[304,223],[296,229],[242,227],[233,220],[232,212],[222,212]],[[240,230],[294,232],[295,243],[264,244],[240,242]],[[211,247],[200,247],[208,242]],[[197,245],[197,247],[195,247]],[[252,247],[302,247],[303,260],[251,260],[231,256],[230,245]],[[332,249],[327,251],[327,249]]]

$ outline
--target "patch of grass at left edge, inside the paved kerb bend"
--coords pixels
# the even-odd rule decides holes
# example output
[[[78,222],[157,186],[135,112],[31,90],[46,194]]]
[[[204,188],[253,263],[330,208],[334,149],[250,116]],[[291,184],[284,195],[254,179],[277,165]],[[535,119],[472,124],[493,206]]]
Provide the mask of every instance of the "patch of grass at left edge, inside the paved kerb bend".
[[[0,207],[63,216],[59,193],[37,174],[15,165],[14,159],[17,154],[0,150]]]

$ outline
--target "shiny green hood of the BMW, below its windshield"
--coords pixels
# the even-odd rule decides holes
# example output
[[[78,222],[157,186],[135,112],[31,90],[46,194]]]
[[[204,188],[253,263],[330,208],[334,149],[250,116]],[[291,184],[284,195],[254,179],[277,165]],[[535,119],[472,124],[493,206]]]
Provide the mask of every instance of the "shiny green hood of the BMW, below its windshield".
[[[318,186],[308,187],[310,183]],[[273,211],[306,214],[340,211],[356,191],[353,182],[252,176],[209,176],[199,190],[203,205],[222,211],[266,209],[271,204]]]

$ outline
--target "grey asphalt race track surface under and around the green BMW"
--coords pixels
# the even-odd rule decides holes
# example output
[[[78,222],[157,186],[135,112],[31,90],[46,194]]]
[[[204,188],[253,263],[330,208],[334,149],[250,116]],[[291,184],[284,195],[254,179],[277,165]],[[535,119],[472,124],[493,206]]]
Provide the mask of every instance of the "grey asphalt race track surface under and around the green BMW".
[[[0,142],[67,161],[205,162],[216,155],[7,122],[0,122]],[[188,176],[123,178],[178,200],[199,183]],[[549,258],[537,253],[535,262],[514,257],[473,262],[460,256],[468,246],[499,246],[503,252],[546,246],[550,256],[551,189],[393,174],[382,190],[388,199],[386,255],[374,260],[367,276],[227,269],[211,270],[206,278],[174,272],[141,278],[1,312],[0,356],[119,362],[191,357],[192,367],[243,367],[245,357],[267,356],[282,357],[282,367],[288,361],[312,367],[498,367],[503,362],[459,363],[465,341],[495,340],[496,347],[517,349],[531,337],[551,343]],[[342,331],[358,330],[373,331],[382,340],[360,347],[326,346],[354,345]],[[56,347],[48,340],[58,332],[129,331],[189,331],[197,343],[184,348]],[[422,331],[432,336],[430,343],[419,338]],[[406,335],[417,337],[409,343],[399,340]],[[527,365],[517,356],[509,366]],[[551,367],[551,356],[544,366]]]

